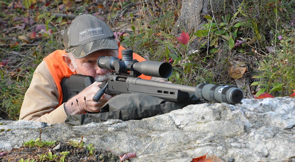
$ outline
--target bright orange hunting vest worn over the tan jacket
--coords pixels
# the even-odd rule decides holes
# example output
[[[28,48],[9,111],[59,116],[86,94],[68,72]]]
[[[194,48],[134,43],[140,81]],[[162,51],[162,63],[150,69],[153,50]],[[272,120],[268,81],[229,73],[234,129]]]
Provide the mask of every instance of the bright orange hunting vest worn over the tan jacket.
[[[122,54],[121,54],[122,49],[125,49],[125,48],[123,48],[122,46],[119,46],[119,51],[118,51],[118,58],[119,59],[122,58]],[[73,74],[73,72],[68,68],[67,64],[63,61],[63,59],[62,59],[63,54],[66,54],[65,50],[58,49],[43,59],[46,62],[46,65],[47,65],[47,67],[54,79],[54,82],[57,86],[57,89],[58,89],[58,94],[59,94],[58,106],[60,106],[63,101],[63,92],[62,92],[61,85],[60,85],[61,80],[65,77],[70,77]],[[139,62],[145,61],[144,58],[142,58],[141,56],[139,56],[138,54],[135,54],[135,53],[133,53],[133,59],[137,59],[137,61],[139,61]],[[140,75],[140,78],[150,80],[151,77],[145,76],[142,74],[142,75]]]

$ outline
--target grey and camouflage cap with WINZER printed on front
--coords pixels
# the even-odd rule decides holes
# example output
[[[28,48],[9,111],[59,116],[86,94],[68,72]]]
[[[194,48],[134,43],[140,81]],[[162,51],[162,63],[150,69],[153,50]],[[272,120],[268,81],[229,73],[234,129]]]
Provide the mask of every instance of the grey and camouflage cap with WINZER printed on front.
[[[79,14],[63,34],[65,52],[81,59],[101,49],[118,50],[115,35],[101,19],[91,14]]]

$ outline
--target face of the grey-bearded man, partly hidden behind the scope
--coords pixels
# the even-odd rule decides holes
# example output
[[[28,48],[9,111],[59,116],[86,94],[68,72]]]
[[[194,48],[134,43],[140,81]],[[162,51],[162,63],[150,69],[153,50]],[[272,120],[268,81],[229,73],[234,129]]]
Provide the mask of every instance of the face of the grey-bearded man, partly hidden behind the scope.
[[[76,59],[76,73],[92,76],[98,82],[106,81],[112,73],[110,70],[101,69],[96,65],[96,60],[100,56],[118,57],[118,52],[114,50],[100,50],[81,59]]]

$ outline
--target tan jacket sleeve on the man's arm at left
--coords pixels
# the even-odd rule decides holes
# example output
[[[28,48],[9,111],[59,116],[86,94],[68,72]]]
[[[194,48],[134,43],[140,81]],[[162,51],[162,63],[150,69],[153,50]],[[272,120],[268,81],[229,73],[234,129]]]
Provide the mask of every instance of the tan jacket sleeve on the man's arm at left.
[[[65,123],[64,104],[58,108],[58,89],[45,61],[38,65],[20,110],[19,119]]]

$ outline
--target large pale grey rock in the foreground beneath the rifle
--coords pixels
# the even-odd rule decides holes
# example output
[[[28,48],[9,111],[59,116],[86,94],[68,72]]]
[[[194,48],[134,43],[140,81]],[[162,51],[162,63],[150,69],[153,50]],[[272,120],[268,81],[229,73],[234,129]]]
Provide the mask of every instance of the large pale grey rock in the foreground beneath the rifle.
[[[142,120],[108,120],[80,126],[35,121],[0,125],[0,150],[36,139],[94,143],[119,155],[136,152],[133,162],[288,161],[295,156],[295,99],[243,99],[242,104],[203,103]],[[148,159],[148,160],[147,160]]]

